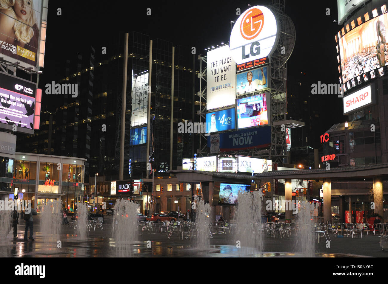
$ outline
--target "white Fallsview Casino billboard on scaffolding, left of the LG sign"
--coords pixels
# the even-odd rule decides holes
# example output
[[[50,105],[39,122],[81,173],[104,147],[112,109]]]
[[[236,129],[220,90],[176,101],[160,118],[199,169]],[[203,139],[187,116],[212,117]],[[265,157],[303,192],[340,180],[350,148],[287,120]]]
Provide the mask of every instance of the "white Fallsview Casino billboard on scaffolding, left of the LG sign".
[[[236,62],[229,46],[207,53],[206,109],[234,105],[236,100]]]

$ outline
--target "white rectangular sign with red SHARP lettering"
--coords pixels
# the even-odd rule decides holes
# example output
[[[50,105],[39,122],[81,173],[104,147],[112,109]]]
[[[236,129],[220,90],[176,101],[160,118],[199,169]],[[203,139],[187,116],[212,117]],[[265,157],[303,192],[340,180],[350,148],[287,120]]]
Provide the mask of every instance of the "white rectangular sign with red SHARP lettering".
[[[355,91],[348,96],[344,96],[343,114],[350,114],[357,110],[361,110],[375,103],[374,100],[374,84],[370,84],[365,88]]]

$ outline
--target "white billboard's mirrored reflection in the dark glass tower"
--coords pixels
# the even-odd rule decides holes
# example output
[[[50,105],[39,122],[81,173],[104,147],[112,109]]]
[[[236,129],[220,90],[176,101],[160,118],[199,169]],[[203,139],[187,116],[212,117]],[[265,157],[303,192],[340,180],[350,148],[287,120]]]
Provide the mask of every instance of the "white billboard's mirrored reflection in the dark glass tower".
[[[133,74],[132,70],[132,112],[131,126],[147,123],[148,73]]]

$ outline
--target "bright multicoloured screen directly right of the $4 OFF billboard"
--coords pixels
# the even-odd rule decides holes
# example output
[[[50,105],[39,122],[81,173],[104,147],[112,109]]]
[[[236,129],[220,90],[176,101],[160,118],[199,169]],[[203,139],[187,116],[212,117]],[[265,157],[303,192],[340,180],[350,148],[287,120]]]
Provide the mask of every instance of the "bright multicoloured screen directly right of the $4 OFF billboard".
[[[237,126],[239,129],[267,125],[267,97],[269,93],[237,99]]]

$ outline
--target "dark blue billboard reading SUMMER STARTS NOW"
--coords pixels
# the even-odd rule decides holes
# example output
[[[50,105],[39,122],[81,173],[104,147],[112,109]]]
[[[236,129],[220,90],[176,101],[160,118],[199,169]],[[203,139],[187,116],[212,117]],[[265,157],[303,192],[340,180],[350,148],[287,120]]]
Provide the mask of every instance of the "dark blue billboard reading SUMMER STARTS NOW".
[[[219,136],[219,137],[217,137]],[[271,127],[257,127],[208,136],[210,153],[265,148],[271,145]]]

